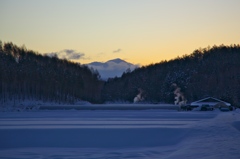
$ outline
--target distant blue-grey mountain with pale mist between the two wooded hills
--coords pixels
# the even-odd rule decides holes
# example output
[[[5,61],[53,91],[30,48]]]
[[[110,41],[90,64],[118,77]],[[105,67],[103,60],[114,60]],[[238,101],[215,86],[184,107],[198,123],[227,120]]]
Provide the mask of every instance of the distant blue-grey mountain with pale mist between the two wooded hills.
[[[98,70],[103,80],[114,78],[116,76],[121,77],[123,72],[125,72],[127,69],[132,71],[139,67],[139,65],[131,64],[120,58],[109,60],[107,62],[92,62],[87,64],[87,66]]]

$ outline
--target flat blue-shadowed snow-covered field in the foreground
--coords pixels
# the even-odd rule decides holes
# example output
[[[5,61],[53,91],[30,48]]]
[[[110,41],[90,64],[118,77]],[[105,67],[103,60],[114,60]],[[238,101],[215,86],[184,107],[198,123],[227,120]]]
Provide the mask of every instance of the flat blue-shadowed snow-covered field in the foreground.
[[[240,111],[0,112],[0,158],[239,159]]]

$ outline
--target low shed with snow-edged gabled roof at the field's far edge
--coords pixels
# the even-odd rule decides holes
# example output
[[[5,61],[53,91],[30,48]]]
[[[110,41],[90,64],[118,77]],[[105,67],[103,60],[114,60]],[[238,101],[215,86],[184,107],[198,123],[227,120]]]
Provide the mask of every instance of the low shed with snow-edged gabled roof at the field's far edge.
[[[217,105],[219,103],[224,103],[226,106],[231,106],[230,103],[227,103],[225,101],[222,101],[220,99],[213,98],[213,97],[208,97],[208,98],[204,98],[204,99],[192,102],[191,106],[192,107],[199,107],[199,106],[201,107],[201,106],[204,106],[204,105],[208,105],[210,107],[214,107],[215,105]]]

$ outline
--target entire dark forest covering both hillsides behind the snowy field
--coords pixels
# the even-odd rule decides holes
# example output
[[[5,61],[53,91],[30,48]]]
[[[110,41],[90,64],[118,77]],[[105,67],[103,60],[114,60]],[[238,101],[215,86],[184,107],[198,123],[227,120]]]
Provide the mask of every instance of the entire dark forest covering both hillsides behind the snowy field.
[[[176,83],[187,102],[215,97],[240,105],[240,45],[197,49],[170,61],[126,71],[102,81],[97,71],[0,43],[0,102],[37,99],[74,103],[132,102],[141,89],[148,103],[173,103]]]

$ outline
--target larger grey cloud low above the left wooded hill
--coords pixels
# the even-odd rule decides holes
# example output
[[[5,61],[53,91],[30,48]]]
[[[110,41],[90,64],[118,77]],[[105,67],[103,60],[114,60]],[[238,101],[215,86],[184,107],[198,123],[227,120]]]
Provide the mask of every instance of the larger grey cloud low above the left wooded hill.
[[[77,52],[76,50],[72,50],[72,49],[65,49],[59,52],[51,52],[51,53],[47,53],[47,55],[50,57],[57,56],[59,58],[68,59],[68,60],[84,59],[84,56],[85,56],[84,53]]]

